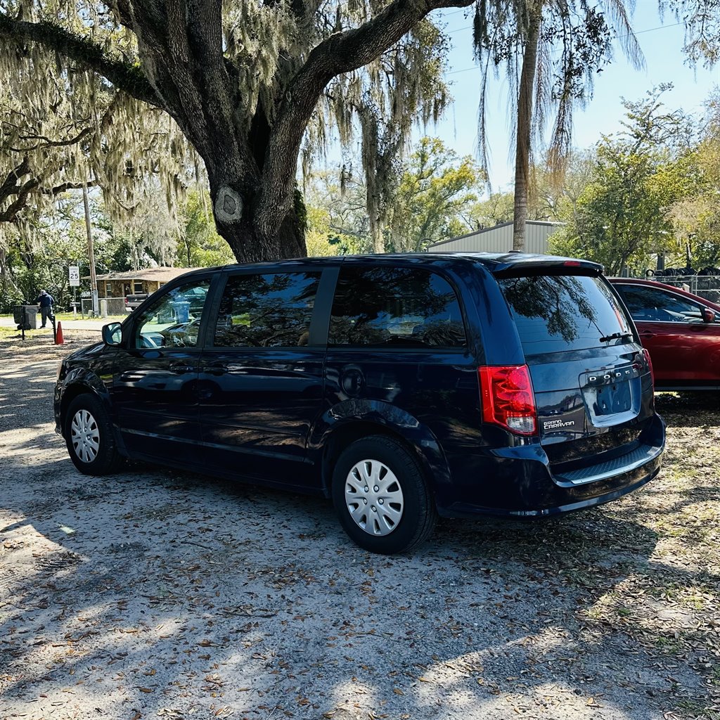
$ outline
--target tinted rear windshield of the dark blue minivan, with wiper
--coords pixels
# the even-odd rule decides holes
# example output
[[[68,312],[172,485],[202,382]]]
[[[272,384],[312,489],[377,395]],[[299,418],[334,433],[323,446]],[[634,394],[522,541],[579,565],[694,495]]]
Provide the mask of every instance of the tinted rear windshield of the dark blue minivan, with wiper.
[[[499,278],[527,355],[624,343],[632,330],[607,282],[597,276]]]

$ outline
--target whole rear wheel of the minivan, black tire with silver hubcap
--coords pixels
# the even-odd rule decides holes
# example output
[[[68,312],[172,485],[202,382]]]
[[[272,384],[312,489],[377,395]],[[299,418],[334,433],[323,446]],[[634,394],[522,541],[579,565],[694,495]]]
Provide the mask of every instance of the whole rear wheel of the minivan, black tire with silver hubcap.
[[[375,435],[348,446],[333,470],[332,490],[344,530],[370,552],[407,552],[435,527],[437,511],[422,469],[391,438]]]

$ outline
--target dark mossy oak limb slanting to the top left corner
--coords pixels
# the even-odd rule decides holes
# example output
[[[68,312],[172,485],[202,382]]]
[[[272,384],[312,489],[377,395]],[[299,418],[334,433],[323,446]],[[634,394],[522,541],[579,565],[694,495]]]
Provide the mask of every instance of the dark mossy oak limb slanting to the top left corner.
[[[0,12],[0,38],[18,45],[27,40],[87,66],[128,95],[162,107],[160,99],[140,68],[109,58],[99,45],[78,37],[52,22],[24,22]]]

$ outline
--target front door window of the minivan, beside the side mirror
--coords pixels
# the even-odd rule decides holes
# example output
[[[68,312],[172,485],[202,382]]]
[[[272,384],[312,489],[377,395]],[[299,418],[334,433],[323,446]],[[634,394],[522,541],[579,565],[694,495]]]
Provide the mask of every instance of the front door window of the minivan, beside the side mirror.
[[[200,317],[210,280],[181,285],[153,302],[138,316],[133,333],[136,348],[197,346]]]

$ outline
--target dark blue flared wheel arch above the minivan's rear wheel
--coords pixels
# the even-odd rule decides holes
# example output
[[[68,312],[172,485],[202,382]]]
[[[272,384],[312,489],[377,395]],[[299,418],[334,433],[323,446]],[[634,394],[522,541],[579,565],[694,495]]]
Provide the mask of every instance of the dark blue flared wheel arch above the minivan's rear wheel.
[[[418,458],[430,484],[433,495],[451,483],[445,453],[436,436],[420,420],[396,405],[382,400],[343,400],[333,405],[315,423],[310,433],[308,455],[323,464],[325,449],[340,444],[339,454],[348,444],[372,434],[385,434],[398,438]],[[332,468],[323,468],[323,490],[329,491]]]

